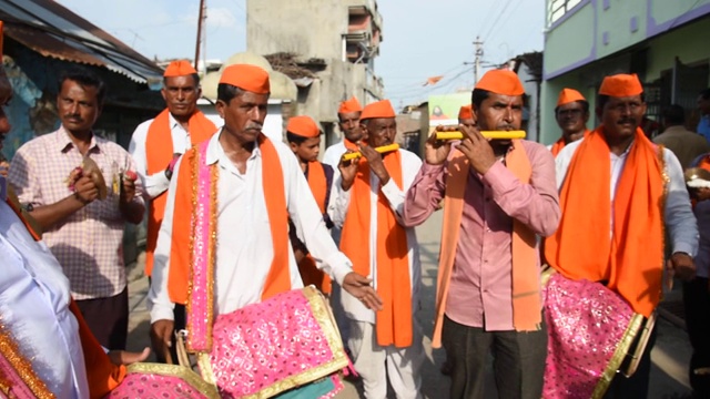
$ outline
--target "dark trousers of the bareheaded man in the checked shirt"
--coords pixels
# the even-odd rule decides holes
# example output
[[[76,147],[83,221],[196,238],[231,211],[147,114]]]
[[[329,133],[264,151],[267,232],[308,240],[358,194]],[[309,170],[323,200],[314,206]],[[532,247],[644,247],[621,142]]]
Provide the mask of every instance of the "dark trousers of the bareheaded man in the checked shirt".
[[[108,298],[77,300],[89,329],[110,350],[124,350],[129,335],[129,288]]]

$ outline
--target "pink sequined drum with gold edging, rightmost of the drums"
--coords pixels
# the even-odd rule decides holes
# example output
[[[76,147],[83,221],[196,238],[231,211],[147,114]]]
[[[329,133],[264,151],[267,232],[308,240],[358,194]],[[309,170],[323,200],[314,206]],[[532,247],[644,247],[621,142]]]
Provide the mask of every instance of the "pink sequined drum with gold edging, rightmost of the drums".
[[[617,371],[631,376],[653,328],[600,283],[542,273],[548,355],[542,397],[601,398]]]

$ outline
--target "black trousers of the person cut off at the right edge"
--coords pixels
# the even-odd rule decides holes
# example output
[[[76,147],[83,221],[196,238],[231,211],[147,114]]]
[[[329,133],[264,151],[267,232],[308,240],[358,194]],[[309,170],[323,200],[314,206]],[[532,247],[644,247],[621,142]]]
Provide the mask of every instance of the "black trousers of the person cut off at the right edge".
[[[692,346],[689,377],[697,398],[710,398],[710,375],[696,375],[694,369],[710,367],[710,291],[708,278],[696,277],[683,283],[686,329]]]

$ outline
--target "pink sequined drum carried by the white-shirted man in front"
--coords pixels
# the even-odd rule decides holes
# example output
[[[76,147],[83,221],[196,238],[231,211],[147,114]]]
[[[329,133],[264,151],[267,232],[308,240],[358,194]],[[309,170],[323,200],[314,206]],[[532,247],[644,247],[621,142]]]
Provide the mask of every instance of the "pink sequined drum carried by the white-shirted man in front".
[[[179,359],[196,362],[223,397],[326,398],[343,388],[339,371],[349,359],[331,308],[313,286],[220,315],[212,331],[210,354]]]

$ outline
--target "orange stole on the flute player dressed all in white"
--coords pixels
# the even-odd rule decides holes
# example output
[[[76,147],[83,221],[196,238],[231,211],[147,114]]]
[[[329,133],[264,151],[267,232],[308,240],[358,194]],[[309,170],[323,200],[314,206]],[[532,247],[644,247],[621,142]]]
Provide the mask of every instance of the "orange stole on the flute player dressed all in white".
[[[402,155],[399,151],[384,155],[389,177],[403,187]],[[357,176],[351,187],[351,203],[343,225],[341,249],[353,262],[353,269],[364,276],[371,274],[369,165],[361,158]],[[377,342],[404,348],[412,345],[412,287],[407,234],[389,207],[387,198],[377,187],[377,294],[383,310],[376,313]]]

